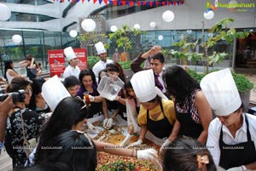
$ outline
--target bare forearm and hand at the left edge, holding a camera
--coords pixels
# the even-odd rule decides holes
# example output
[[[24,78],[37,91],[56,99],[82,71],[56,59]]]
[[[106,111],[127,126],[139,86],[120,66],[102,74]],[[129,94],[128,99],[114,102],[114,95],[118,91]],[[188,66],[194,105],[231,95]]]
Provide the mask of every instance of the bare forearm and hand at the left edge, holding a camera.
[[[3,102],[0,102],[0,155],[1,150],[3,148],[3,138],[5,134],[5,128],[6,128],[6,119],[8,117],[9,111],[14,107],[13,100],[11,95],[4,100]]]

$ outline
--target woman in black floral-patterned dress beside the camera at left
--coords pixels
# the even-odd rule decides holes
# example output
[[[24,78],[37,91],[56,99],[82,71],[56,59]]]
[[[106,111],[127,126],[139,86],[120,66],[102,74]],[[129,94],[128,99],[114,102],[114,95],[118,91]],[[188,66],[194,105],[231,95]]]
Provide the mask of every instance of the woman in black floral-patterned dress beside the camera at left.
[[[24,93],[19,90],[24,89]],[[6,88],[7,93],[13,95],[15,107],[7,118],[7,128],[4,145],[9,156],[13,159],[13,168],[22,168],[27,161],[23,148],[24,136],[26,140],[38,137],[44,117],[26,108],[32,96],[32,87],[24,77],[15,77]],[[15,97],[15,98],[14,98]]]

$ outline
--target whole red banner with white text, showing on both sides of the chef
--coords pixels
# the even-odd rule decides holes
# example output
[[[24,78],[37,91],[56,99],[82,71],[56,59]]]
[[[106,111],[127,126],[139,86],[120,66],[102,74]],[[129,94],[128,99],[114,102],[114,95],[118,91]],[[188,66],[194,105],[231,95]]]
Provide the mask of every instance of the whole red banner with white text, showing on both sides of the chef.
[[[73,48],[74,53],[79,60],[80,70],[87,68],[87,50],[86,48]],[[65,71],[65,55],[63,49],[48,50],[50,77],[58,77]]]

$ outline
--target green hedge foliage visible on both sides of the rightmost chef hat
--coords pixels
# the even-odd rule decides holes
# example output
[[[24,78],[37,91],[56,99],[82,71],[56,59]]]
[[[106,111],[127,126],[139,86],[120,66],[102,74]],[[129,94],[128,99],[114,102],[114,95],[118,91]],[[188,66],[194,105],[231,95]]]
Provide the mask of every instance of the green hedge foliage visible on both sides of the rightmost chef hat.
[[[212,70],[212,71],[218,71],[218,70]],[[204,72],[204,73],[198,73],[196,71],[192,71],[192,70],[188,70],[189,75],[193,78],[195,78],[195,80],[200,83],[201,79],[203,77],[205,77],[207,75],[207,73],[211,73],[212,71],[208,71],[208,72]],[[245,77],[242,74],[237,74],[236,71],[231,71],[232,76],[235,80],[236,83],[236,87],[238,89],[239,92],[245,92],[247,90],[250,90],[253,88],[253,83],[251,83],[247,77]]]

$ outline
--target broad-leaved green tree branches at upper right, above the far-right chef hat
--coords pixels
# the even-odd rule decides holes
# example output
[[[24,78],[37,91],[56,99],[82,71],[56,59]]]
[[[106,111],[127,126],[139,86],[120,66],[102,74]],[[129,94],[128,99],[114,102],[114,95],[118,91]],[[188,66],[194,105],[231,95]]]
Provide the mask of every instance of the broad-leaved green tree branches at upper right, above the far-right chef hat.
[[[195,43],[187,43],[187,41],[174,43],[173,46],[179,47],[179,51],[174,51],[171,49],[167,53],[172,54],[176,58],[185,60],[206,60],[205,71],[209,71],[210,65],[222,62],[224,57],[228,55],[225,52],[218,53],[216,51],[213,51],[212,55],[209,55],[209,48],[212,48],[222,40],[232,44],[236,38],[244,38],[250,34],[247,31],[236,32],[235,28],[228,28],[228,24],[234,21],[234,19],[230,18],[225,18],[218,21],[214,26],[212,26],[212,28],[208,30],[208,33],[212,33],[212,37],[208,37],[207,41],[205,41],[204,22],[202,23],[202,43],[200,45],[202,48],[204,48],[204,54],[191,52],[193,49],[195,49],[198,41],[195,41]]]

